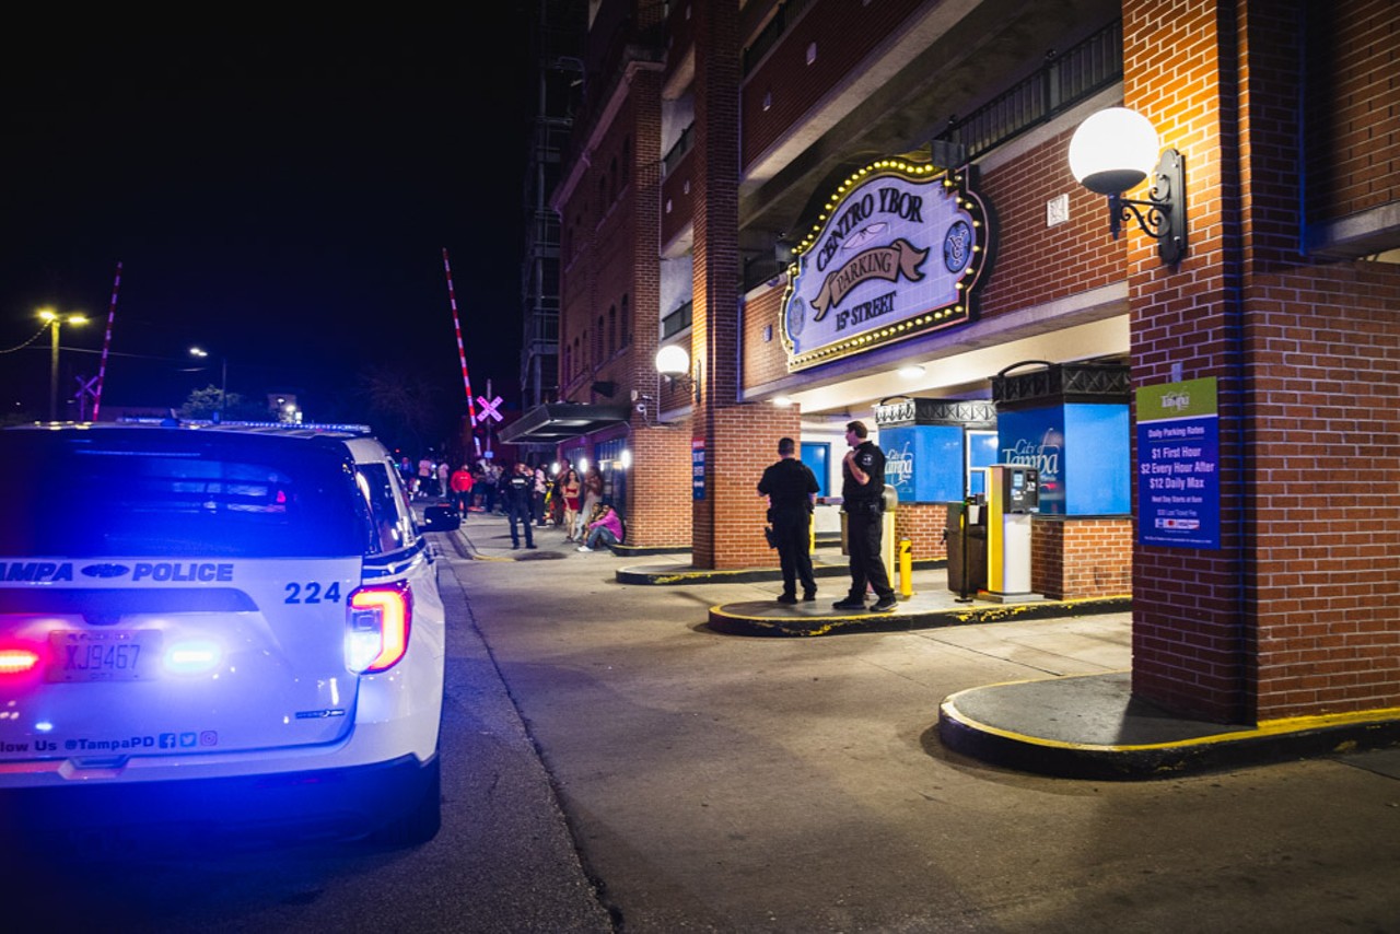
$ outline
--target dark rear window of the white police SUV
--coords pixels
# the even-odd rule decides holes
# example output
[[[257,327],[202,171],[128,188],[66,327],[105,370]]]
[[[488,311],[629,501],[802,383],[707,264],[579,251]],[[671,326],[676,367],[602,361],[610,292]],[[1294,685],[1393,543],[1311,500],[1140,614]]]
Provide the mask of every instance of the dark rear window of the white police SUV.
[[[202,431],[0,431],[0,555],[333,557],[365,550],[343,448]]]

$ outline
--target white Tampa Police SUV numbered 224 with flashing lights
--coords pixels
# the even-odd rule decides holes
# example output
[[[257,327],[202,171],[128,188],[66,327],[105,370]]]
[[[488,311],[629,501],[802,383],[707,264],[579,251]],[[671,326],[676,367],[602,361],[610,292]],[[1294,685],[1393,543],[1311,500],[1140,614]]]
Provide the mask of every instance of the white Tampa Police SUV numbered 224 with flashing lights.
[[[0,430],[0,835],[430,839],[444,658],[433,552],[365,431]]]

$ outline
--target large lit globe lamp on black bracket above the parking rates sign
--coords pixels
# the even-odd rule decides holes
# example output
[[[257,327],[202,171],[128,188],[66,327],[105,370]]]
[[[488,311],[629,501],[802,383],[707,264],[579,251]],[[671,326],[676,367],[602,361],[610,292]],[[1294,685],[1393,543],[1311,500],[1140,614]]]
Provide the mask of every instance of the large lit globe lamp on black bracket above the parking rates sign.
[[[1070,140],[1075,181],[1109,196],[1109,228],[1117,239],[1123,221],[1137,218],[1156,239],[1156,255],[1175,263],[1186,255],[1186,162],[1175,148],[1162,150],[1152,122],[1137,111],[1099,111]],[[1151,179],[1147,200],[1123,197]]]

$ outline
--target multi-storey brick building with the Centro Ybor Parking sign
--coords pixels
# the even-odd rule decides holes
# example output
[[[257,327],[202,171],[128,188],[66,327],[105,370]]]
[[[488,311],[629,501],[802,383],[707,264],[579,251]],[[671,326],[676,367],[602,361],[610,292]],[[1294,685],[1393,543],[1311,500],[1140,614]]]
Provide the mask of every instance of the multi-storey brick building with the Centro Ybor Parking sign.
[[[1140,696],[1222,723],[1400,707],[1400,8],[601,0],[588,20],[553,195],[566,402],[519,433],[603,463],[634,543],[770,563],[753,487],[777,437],[834,494],[864,419],[916,557],[944,553],[987,463],[1042,469],[1033,590],[1131,588]],[[1114,237],[1071,174],[1106,108],[1180,154],[1182,255],[1128,209]],[[689,372],[658,375],[665,346]],[[1162,448],[1176,430],[1210,444]]]

